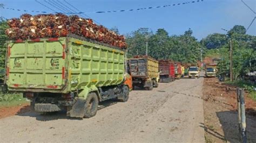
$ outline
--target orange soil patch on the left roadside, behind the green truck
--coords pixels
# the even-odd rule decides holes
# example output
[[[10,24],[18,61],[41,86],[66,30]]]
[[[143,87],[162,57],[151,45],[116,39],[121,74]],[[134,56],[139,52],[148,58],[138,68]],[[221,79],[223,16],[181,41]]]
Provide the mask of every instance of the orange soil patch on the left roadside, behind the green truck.
[[[17,105],[17,106],[8,106],[8,107],[3,106],[3,107],[0,107],[0,119],[9,117],[9,116],[22,114],[22,113],[29,112],[29,111],[30,111],[29,103],[24,103],[24,104]]]

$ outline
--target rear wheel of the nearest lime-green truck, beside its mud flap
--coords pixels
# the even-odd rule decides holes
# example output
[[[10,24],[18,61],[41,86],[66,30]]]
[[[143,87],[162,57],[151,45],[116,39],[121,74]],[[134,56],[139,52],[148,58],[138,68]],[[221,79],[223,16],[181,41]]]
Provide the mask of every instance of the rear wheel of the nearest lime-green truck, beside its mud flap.
[[[98,97],[95,92],[91,92],[85,100],[84,118],[91,118],[98,110]]]

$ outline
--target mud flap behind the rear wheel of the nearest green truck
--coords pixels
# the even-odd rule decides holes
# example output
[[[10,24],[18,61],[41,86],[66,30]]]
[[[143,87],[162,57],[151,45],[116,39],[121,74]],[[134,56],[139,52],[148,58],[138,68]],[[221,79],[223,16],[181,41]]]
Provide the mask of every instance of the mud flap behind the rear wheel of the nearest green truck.
[[[84,99],[74,99],[72,108],[67,112],[67,116],[83,118],[85,110],[85,100]]]

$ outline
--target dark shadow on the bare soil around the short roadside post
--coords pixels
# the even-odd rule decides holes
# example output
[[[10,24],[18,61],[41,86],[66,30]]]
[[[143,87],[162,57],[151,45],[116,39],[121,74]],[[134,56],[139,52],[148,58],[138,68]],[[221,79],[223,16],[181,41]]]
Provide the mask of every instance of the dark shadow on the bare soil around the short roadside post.
[[[237,111],[217,112],[223,128],[225,139],[229,142],[239,142]],[[256,118],[246,115],[246,131],[248,142],[256,142]]]

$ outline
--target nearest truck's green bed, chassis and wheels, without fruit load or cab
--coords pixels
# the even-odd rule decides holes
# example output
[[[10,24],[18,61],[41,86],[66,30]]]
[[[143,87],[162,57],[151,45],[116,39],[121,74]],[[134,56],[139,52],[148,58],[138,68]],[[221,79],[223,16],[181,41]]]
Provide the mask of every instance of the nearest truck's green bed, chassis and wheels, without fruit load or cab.
[[[77,35],[9,41],[5,83],[37,112],[90,118],[99,102],[129,98],[125,63],[125,49]]]

